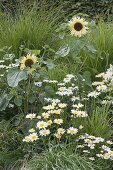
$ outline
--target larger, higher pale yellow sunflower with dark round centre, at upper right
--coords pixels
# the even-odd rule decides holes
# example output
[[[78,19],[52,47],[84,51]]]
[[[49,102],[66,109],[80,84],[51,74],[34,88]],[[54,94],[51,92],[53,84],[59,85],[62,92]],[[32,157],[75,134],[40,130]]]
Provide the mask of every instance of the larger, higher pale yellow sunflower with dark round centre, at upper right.
[[[72,20],[68,23],[71,35],[74,35],[76,37],[81,37],[82,35],[85,35],[87,33],[87,25],[88,22],[80,17],[73,17]]]

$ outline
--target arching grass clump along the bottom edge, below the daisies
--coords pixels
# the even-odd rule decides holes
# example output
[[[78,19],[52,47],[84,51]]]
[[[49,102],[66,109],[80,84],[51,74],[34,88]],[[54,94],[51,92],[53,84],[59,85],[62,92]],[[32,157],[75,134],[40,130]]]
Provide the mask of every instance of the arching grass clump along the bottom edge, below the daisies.
[[[34,156],[27,165],[29,170],[110,170],[110,165],[106,161],[90,162],[84,157],[79,156],[75,148],[65,145],[52,146],[41,155]]]

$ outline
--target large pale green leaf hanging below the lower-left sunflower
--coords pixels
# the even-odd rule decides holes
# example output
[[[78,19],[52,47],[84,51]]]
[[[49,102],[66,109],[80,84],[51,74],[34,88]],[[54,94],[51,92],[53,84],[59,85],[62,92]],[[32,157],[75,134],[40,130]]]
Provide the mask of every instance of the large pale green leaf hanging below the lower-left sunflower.
[[[26,80],[26,79],[27,79],[27,72],[23,70],[21,71],[18,68],[10,69],[7,75],[7,82],[8,85],[11,87],[18,86],[18,83],[21,80]]]

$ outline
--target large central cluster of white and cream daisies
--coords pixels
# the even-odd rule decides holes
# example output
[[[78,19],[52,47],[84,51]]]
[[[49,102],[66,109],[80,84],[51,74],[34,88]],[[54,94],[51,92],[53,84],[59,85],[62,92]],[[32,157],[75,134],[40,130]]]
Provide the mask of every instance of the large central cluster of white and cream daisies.
[[[44,100],[47,105],[43,106],[43,112],[40,115],[26,115],[28,119],[38,119],[35,127],[36,130],[33,131],[35,137],[29,134],[23,140],[26,142],[37,140],[39,136],[54,135],[54,137],[60,140],[62,135],[66,133],[76,135],[83,126],[80,125],[78,128],[73,127],[72,120],[88,116],[87,112],[84,111],[84,104],[80,102],[80,96],[77,96],[79,89],[78,86],[76,86],[74,75],[66,75],[61,83],[55,80],[44,82],[57,84],[58,90],[55,94],[57,98],[45,98]],[[68,120],[71,122],[70,127]],[[64,126],[65,123],[67,127]],[[36,131],[38,131],[38,134]]]

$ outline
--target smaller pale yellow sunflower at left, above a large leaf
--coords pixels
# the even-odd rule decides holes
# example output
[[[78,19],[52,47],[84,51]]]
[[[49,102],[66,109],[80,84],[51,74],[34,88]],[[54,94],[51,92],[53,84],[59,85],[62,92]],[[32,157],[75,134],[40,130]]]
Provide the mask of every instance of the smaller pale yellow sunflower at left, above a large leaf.
[[[26,57],[22,57],[20,63],[20,69],[23,70],[26,67],[31,68],[33,64],[35,64],[37,62],[37,57],[32,54],[28,54]]]

